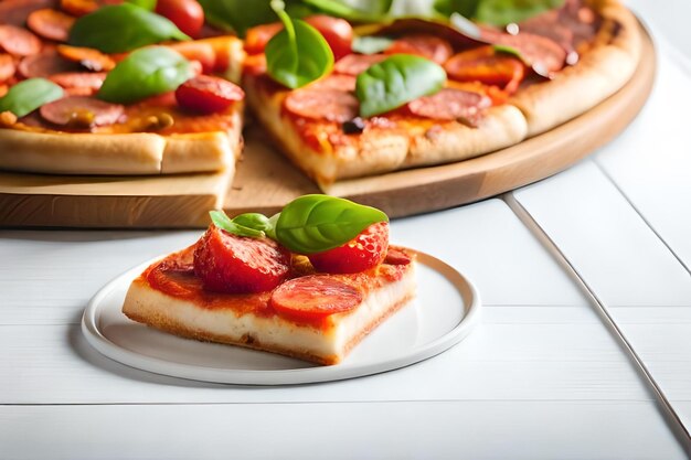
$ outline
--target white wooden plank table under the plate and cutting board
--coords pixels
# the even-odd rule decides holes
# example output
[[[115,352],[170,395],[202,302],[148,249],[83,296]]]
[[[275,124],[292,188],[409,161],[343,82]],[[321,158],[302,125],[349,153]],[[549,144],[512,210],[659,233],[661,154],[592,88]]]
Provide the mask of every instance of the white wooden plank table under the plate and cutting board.
[[[667,38],[691,44],[691,4],[629,3],[659,75],[620,138],[506,196],[393,223],[483,299],[474,333],[419,364],[288,387],[129,368],[86,343],[86,302],[199,232],[0,232],[0,459],[687,458],[691,65]]]

